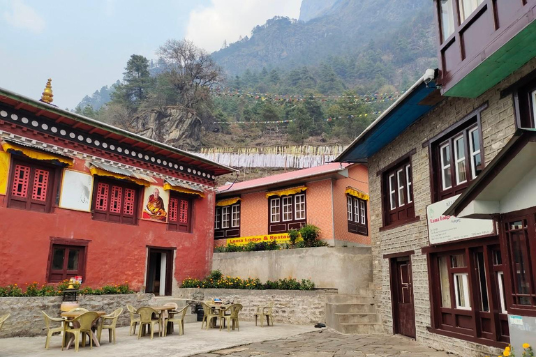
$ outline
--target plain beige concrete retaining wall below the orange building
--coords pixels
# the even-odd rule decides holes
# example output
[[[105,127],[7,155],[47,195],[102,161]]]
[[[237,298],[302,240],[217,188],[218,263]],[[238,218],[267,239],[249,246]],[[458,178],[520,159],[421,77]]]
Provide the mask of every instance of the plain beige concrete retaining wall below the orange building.
[[[224,275],[259,278],[311,279],[319,289],[359,294],[372,282],[371,248],[319,247],[262,252],[214,253],[212,269]]]

